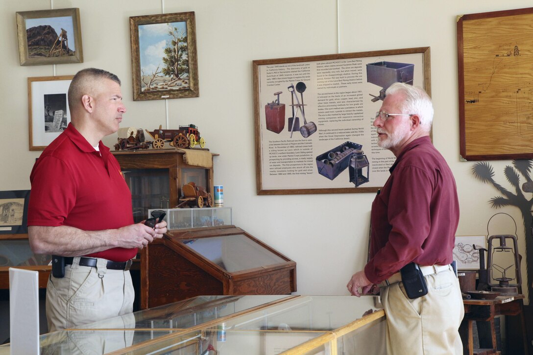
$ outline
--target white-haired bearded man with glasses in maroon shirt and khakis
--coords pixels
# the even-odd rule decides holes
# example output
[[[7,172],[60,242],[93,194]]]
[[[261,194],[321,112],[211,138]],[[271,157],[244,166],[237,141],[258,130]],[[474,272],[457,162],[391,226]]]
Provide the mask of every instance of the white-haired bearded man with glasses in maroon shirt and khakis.
[[[463,352],[458,333],[463,300],[450,265],[459,221],[457,189],[431,143],[432,120],[429,96],[400,83],[387,88],[374,120],[378,146],[397,159],[372,204],[370,259],[346,287],[358,297],[380,287],[388,354]],[[421,275],[416,298],[406,276],[402,281],[400,270],[409,267]]]

